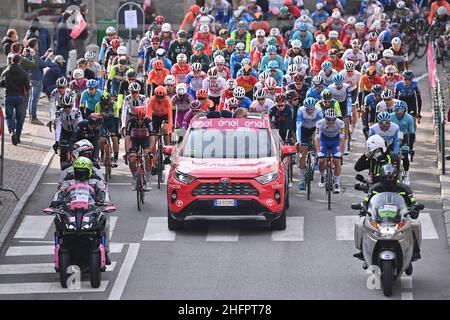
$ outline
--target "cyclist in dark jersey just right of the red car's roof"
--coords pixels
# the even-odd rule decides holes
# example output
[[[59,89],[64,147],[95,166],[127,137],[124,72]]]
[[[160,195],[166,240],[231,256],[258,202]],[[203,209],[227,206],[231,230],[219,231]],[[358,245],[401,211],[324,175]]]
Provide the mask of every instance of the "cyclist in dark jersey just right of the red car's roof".
[[[269,119],[273,123],[283,141],[293,142],[294,112],[286,106],[286,95],[275,95],[275,106],[269,109]]]

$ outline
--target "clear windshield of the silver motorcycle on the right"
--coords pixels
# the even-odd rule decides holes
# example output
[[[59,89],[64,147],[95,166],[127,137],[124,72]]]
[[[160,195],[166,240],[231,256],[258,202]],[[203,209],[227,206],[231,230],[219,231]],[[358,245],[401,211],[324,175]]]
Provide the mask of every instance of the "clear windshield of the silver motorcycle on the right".
[[[379,193],[369,203],[369,211],[378,222],[398,222],[407,210],[403,197],[392,192]]]

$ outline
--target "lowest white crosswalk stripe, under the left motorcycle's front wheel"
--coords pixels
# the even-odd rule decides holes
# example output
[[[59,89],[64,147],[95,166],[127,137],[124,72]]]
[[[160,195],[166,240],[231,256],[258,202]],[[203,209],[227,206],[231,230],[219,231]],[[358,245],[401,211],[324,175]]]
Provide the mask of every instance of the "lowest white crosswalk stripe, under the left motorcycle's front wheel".
[[[81,289],[65,289],[59,282],[29,282],[0,284],[0,294],[45,294],[45,293],[81,293],[103,292],[109,281],[102,281],[100,287],[93,289],[88,281],[81,282]]]

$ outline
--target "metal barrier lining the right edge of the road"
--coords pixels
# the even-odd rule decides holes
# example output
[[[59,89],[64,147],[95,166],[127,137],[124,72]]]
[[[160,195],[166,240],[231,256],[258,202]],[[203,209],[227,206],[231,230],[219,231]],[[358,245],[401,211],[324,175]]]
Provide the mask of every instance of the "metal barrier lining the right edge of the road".
[[[438,131],[439,156],[441,157],[441,171],[445,175],[445,102],[442,84],[438,78],[435,80],[433,90],[434,122]]]

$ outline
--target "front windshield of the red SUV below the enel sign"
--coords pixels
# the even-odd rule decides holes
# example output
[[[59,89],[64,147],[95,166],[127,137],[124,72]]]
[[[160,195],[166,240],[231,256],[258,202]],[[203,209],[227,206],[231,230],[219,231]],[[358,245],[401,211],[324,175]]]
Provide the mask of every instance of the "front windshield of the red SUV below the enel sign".
[[[259,159],[273,157],[268,129],[192,128],[182,156],[213,159]]]

